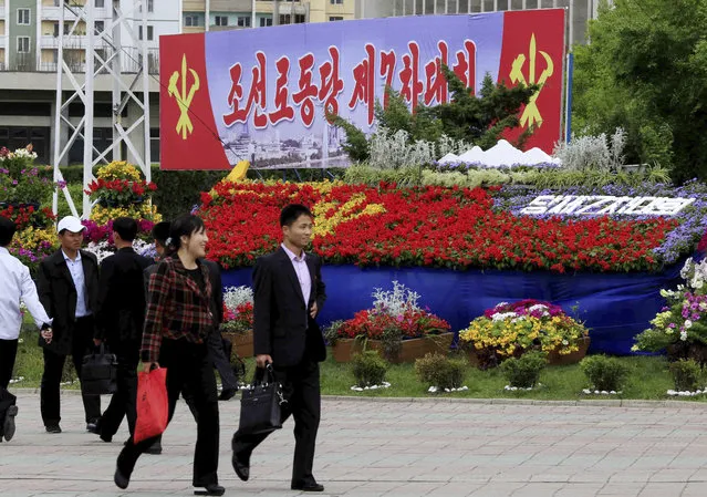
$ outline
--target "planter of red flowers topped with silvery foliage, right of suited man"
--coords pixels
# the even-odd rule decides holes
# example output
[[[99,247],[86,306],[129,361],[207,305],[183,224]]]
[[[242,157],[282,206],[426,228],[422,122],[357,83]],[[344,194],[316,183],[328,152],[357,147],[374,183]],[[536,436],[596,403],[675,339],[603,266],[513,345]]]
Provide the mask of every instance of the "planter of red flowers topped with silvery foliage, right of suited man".
[[[393,290],[376,288],[373,308],[333,323],[325,333],[337,362],[349,362],[362,350],[380,350],[391,362],[414,362],[429,352],[449,350],[449,323],[417,301],[420,296],[393,281]]]

